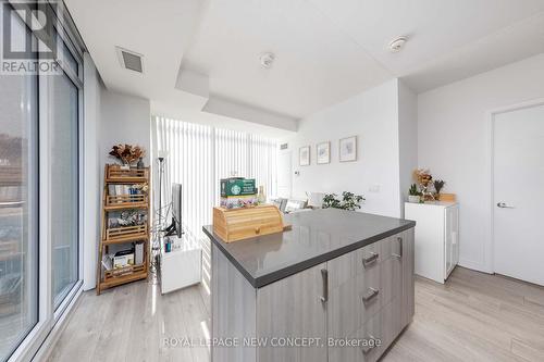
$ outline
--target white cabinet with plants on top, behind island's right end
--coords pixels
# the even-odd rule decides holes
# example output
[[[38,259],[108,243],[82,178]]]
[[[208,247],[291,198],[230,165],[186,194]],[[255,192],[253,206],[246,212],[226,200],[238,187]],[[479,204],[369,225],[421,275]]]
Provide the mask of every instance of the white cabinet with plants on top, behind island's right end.
[[[407,202],[405,219],[416,222],[416,274],[444,284],[459,261],[459,205]]]

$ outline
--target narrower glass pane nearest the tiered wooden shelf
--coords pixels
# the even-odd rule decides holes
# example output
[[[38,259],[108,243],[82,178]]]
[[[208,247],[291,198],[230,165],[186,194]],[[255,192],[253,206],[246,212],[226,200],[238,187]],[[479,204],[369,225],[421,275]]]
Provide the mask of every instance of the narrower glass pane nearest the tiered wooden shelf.
[[[49,76],[51,142],[51,247],[54,309],[78,280],[78,89]]]

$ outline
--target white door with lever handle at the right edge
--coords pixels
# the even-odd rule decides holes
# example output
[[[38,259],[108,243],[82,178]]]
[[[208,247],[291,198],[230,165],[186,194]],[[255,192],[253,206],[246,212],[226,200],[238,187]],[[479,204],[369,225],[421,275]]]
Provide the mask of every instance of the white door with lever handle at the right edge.
[[[495,272],[544,285],[544,105],[496,114],[493,145]]]

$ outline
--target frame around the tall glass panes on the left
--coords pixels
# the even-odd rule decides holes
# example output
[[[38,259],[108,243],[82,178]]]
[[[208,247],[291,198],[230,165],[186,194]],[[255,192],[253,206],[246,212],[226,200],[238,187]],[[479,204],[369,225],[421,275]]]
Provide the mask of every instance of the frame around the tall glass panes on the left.
[[[8,0],[11,2],[11,0]],[[22,361],[30,360],[39,351],[41,345],[47,339],[49,334],[60,327],[61,322],[66,317],[70,309],[75,304],[77,297],[83,290],[83,265],[84,265],[84,254],[83,254],[83,240],[84,240],[84,61],[83,51],[85,47],[81,41],[78,34],[74,35],[73,29],[75,28],[73,24],[71,25],[66,18],[70,18],[70,14],[65,10],[62,2],[55,2],[58,5],[55,12],[55,23],[54,28],[58,36],[64,42],[67,50],[74,57],[77,62],[77,72],[74,72],[69,66],[64,66],[64,62],[59,62],[64,75],[76,86],[77,88],[77,280],[71,290],[66,294],[63,301],[59,304],[57,310],[54,309],[54,296],[52,290],[52,240],[50,230],[50,126],[51,126],[51,110],[50,104],[50,83],[48,83],[47,75],[38,72],[37,76],[37,110],[32,112],[37,112],[37,150],[36,150],[36,162],[38,163],[38,186],[37,186],[37,203],[38,211],[36,212],[38,220],[35,222],[37,224],[37,242],[38,242],[38,300],[37,300],[37,323],[28,332],[26,337],[21,341],[16,349],[8,357],[8,361]],[[66,15],[67,14],[67,15]],[[21,14],[18,14],[21,16]],[[26,20],[21,17],[28,26]],[[34,21],[38,21],[33,17]],[[67,27],[67,29],[65,28]],[[38,50],[45,50],[45,46],[38,42]],[[75,45],[78,45],[76,47]],[[39,54],[38,54],[39,55]],[[58,54],[62,59],[62,54]],[[59,58],[59,57],[58,57]],[[38,60],[41,58],[38,57]]]

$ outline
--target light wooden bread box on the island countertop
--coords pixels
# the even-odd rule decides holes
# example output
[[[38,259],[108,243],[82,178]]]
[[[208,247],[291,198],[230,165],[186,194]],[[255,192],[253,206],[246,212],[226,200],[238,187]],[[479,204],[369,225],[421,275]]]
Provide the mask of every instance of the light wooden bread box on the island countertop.
[[[282,212],[275,205],[213,208],[213,233],[225,242],[282,233],[283,229]]]

